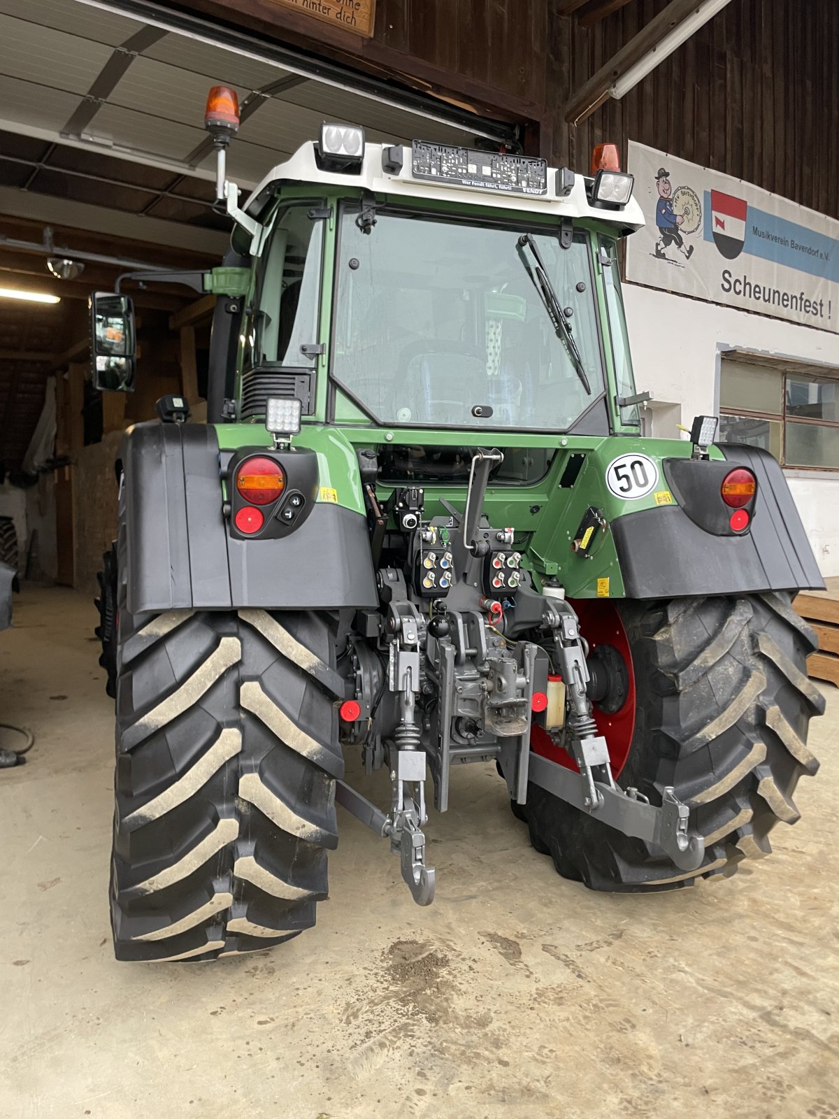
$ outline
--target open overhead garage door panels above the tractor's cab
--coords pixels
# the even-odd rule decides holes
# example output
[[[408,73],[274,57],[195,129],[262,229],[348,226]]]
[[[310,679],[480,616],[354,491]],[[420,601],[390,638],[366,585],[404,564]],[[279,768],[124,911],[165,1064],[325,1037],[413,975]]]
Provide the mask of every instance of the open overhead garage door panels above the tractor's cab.
[[[251,110],[229,157],[232,173],[246,186],[314,139],[326,117],[362,124],[375,142],[416,134],[455,143],[472,139],[463,129],[423,121],[300,69],[79,0],[3,0],[0,41],[0,128],[37,129],[47,140],[89,143],[92,152],[180,168],[187,176],[195,175],[195,164],[211,167],[211,152],[196,150],[206,140],[207,91],[219,84],[232,85]],[[289,88],[277,91],[283,81]],[[8,181],[18,178],[7,169]],[[38,175],[29,189],[55,182],[55,175]]]

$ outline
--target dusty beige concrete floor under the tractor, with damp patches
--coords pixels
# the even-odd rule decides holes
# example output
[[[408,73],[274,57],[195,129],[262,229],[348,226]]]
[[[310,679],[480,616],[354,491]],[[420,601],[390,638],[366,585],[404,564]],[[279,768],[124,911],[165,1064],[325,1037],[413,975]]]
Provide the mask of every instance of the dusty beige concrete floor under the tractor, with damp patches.
[[[2,1119],[839,1117],[836,689],[803,819],[730,881],[588,893],[470,767],[430,824],[430,910],[341,811],[314,930],[256,957],[116,965],[93,624],[81,595],[26,590],[0,633],[1,717],[37,735],[0,771]]]

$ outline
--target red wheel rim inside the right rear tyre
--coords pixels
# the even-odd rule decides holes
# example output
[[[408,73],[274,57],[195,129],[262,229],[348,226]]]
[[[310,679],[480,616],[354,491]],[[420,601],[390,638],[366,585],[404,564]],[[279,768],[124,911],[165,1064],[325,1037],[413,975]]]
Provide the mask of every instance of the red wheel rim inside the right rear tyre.
[[[594,721],[609,745],[612,773],[619,777],[626,764],[635,731],[635,673],[626,630],[613,602],[603,599],[574,599],[572,605],[579,618],[579,632],[588,642],[590,651],[594,652],[598,645],[613,646],[623,657],[629,673],[626,698],[620,711],[610,713],[594,705]],[[536,723],[530,728],[530,746],[534,753],[578,772],[577,763],[571,754],[562,746],[554,745],[547,731]]]

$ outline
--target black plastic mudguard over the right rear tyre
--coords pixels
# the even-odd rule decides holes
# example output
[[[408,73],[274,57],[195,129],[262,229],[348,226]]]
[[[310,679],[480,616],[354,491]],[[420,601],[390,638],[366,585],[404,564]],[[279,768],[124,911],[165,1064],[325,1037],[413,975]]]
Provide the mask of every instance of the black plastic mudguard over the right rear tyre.
[[[757,479],[748,533],[717,535],[680,506],[630,513],[612,523],[628,599],[823,590],[824,581],[781,467],[769,451],[723,443],[728,462]]]

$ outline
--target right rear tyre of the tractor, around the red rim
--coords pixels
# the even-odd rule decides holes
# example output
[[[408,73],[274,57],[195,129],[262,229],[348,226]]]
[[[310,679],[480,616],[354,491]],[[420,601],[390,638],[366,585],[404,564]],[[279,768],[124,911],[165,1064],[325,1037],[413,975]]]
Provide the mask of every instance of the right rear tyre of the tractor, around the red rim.
[[[808,723],[824,709],[807,676],[816,636],[788,593],[615,605],[638,695],[619,783],[657,805],[673,786],[705,837],[705,861],[686,874],[657,847],[534,784],[525,806],[531,841],[559,874],[592,890],[668,890],[733,874],[743,858],[771,852],[779,821],[799,819],[795,786],[819,767],[807,746]]]

